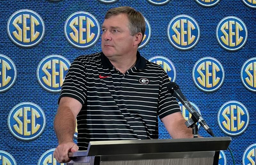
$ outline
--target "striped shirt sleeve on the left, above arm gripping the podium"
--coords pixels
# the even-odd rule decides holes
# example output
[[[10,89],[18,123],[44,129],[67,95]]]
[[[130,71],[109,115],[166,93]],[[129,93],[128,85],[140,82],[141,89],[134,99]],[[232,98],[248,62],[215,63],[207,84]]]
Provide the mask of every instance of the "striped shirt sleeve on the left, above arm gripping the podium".
[[[72,97],[84,105],[86,100],[86,72],[82,62],[77,57],[69,67],[61,87],[60,97]]]

